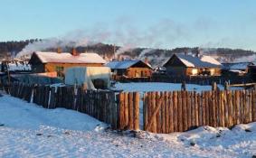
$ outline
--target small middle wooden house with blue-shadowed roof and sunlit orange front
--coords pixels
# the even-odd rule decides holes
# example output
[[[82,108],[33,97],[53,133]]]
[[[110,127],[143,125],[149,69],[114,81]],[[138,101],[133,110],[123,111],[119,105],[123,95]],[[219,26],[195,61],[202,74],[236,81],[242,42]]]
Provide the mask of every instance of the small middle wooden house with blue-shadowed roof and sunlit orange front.
[[[114,60],[107,66],[113,79],[147,79],[152,75],[152,67],[142,60]]]

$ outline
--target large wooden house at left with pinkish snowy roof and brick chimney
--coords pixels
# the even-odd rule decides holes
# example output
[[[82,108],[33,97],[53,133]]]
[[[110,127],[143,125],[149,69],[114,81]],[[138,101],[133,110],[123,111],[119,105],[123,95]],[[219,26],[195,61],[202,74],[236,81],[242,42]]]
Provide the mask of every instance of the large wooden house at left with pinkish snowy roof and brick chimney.
[[[35,51],[29,61],[34,73],[57,72],[58,77],[71,67],[102,67],[106,63],[99,54],[87,52],[43,52]]]

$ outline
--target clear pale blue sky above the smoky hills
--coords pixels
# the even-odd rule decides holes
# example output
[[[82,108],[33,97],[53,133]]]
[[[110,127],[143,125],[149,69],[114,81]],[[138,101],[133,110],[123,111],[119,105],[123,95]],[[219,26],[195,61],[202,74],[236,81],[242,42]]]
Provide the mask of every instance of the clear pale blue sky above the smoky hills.
[[[0,41],[86,39],[256,51],[255,0],[0,0]]]

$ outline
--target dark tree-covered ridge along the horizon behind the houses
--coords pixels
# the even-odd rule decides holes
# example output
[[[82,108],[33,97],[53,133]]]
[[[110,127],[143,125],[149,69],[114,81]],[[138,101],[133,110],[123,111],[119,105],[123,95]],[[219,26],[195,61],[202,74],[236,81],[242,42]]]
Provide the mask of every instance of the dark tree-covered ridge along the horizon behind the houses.
[[[14,56],[17,52],[22,51],[24,47],[33,42],[42,41],[40,39],[31,39],[19,42],[0,42],[0,58],[4,58],[7,56]],[[77,51],[85,52],[85,51],[95,51],[100,55],[107,56],[111,58],[114,52],[119,53],[119,46],[115,46],[113,44],[104,44],[97,43],[94,45],[88,46],[79,46],[76,47]],[[38,51],[56,51],[57,48],[47,48],[45,50]],[[62,51],[71,51],[71,47],[63,47]],[[196,53],[201,51],[204,54],[216,55],[224,58],[228,58],[232,61],[232,59],[240,58],[242,56],[250,56],[256,54],[255,51],[246,51],[242,49],[229,49],[229,48],[190,48],[190,47],[182,47],[175,48],[172,50],[163,50],[163,49],[151,49],[151,48],[133,48],[121,51],[122,54],[128,55],[130,57],[138,57],[143,54],[142,57],[170,57],[174,53],[181,52],[192,52]]]

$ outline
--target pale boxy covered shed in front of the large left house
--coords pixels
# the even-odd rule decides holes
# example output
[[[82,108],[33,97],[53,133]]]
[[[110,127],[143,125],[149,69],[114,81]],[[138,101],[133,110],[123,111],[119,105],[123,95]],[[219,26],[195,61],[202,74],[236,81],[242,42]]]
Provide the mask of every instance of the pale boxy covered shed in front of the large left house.
[[[74,67],[65,72],[65,84],[83,85],[86,89],[110,87],[110,69],[108,67]]]

